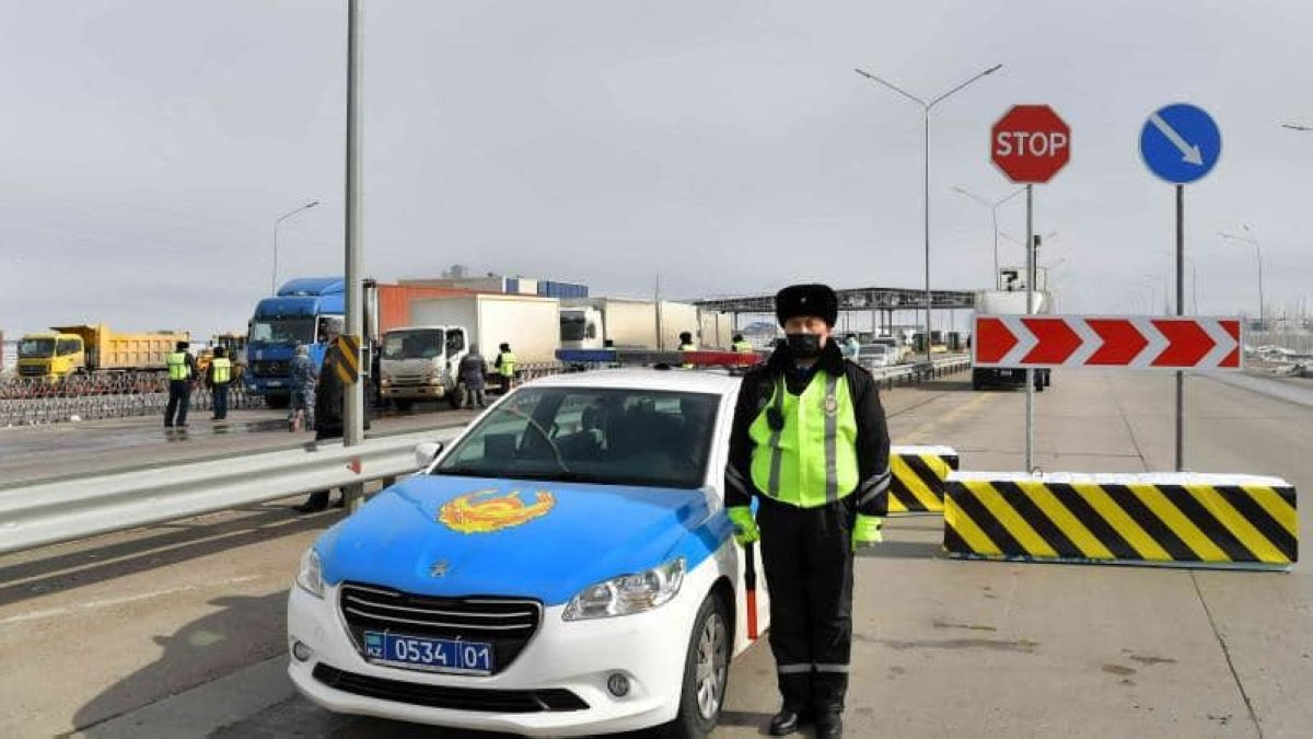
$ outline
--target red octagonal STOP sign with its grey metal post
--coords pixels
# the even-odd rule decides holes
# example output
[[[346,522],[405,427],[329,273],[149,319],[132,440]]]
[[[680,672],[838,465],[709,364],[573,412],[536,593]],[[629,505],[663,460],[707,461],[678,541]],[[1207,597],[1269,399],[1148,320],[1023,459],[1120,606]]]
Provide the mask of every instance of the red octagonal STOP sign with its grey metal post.
[[[1035,184],[1046,183],[1071,158],[1071,129],[1048,105],[1014,105],[990,130],[990,159],[1025,184],[1025,313],[1035,313]],[[974,342],[973,342],[974,343]],[[1025,471],[1035,469],[1035,370],[1025,368]]]

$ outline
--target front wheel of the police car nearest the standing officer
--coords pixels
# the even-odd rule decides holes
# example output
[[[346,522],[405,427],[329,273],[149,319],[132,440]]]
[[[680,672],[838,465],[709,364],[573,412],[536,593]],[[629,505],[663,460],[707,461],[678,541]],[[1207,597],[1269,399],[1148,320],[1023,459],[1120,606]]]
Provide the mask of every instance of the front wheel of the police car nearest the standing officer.
[[[697,609],[684,655],[684,682],[675,721],[658,727],[660,739],[704,739],[716,728],[730,680],[730,626],[725,602],[709,593]]]

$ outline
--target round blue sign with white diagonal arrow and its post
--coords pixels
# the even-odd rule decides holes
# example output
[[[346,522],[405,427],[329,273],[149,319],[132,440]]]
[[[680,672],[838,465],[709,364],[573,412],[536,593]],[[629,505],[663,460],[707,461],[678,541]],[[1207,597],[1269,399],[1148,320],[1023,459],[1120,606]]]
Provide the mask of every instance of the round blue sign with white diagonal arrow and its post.
[[[1221,130],[1203,109],[1186,103],[1159,108],[1140,130],[1140,156],[1176,189],[1176,316],[1186,308],[1186,185],[1201,179],[1222,153]],[[1176,372],[1176,472],[1186,465],[1186,376]]]

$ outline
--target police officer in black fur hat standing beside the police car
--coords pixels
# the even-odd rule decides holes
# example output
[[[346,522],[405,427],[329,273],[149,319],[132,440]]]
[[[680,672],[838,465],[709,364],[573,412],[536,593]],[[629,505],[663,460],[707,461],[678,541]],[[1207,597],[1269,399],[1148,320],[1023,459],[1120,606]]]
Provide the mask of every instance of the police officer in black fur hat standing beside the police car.
[[[775,312],[785,342],[743,377],[725,505],[735,539],[762,542],[771,651],[784,698],[771,735],[814,719],[817,736],[842,736],[853,551],[880,540],[889,433],[876,381],[831,339],[839,312],[834,291],[784,288]]]

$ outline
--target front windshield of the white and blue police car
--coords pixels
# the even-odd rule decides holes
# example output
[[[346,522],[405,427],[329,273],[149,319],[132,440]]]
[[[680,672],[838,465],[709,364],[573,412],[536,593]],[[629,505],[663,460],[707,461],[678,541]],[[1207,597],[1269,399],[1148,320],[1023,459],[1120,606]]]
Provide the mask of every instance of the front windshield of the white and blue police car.
[[[435,475],[700,488],[720,397],[524,388],[498,404]]]

